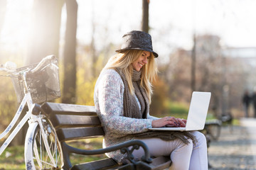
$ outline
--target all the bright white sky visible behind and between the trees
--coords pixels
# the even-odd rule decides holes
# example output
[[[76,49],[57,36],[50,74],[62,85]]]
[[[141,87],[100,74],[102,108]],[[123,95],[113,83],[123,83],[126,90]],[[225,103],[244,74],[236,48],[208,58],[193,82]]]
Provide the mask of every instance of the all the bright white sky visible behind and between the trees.
[[[0,0],[1,1],[1,0]],[[142,1],[77,0],[78,41],[89,43],[92,23],[96,45],[119,44],[129,30],[139,30]],[[32,0],[8,0],[1,48],[26,47]],[[193,46],[193,34],[213,34],[228,47],[256,47],[255,0],[150,0],[149,33],[154,50],[164,54],[174,47]],[[65,8],[63,8],[65,11]],[[1,13],[1,11],[0,11]],[[63,14],[62,36],[65,30]]]

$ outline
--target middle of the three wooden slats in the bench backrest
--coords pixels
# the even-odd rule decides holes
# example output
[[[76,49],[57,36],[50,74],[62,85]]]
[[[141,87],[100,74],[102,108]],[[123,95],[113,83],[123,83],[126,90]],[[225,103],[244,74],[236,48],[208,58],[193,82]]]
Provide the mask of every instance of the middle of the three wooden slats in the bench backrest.
[[[101,126],[95,115],[51,115],[50,121],[55,129]]]

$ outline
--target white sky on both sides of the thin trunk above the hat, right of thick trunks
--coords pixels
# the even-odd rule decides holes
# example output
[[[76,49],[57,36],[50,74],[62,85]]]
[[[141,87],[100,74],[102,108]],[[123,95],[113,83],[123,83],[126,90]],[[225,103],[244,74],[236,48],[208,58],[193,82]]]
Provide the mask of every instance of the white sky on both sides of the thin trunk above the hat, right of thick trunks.
[[[78,4],[81,18],[91,21],[94,13],[98,26],[109,24],[112,32],[140,28],[141,1],[78,0]],[[232,47],[256,46],[255,6],[254,0],[151,0],[150,33],[173,32],[169,39],[178,40],[184,46],[191,46],[191,40],[186,39],[191,39],[193,33],[220,35],[225,44]],[[80,29],[85,29],[83,26],[87,23],[80,23],[80,26]],[[82,35],[82,30],[78,33]],[[116,34],[113,36],[117,38]]]

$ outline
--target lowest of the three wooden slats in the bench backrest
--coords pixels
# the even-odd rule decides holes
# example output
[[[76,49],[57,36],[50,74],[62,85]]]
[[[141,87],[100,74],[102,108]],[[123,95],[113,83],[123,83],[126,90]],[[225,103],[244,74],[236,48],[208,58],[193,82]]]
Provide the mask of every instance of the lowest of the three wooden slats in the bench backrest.
[[[63,141],[80,140],[86,138],[103,137],[102,127],[85,127],[85,128],[61,128],[57,130],[58,139]]]

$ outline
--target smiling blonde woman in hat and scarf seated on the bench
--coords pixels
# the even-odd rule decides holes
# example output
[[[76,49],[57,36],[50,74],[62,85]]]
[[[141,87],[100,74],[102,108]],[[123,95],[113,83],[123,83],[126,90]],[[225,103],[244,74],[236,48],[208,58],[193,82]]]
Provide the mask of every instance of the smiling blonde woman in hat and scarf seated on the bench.
[[[105,130],[103,147],[127,140],[142,140],[152,157],[169,156],[170,169],[208,169],[206,137],[201,132],[161,132],[149,128],[185,126],[186,120],[149,115],[151,81],[156,76],[151,35],[133,30],[123,36],[117,55],[107,62],[95,85],[95,108]],[[142,149],[135,157],[142,157]],[[110,152],[121,163],[123,155]]]

